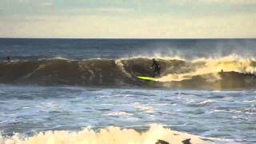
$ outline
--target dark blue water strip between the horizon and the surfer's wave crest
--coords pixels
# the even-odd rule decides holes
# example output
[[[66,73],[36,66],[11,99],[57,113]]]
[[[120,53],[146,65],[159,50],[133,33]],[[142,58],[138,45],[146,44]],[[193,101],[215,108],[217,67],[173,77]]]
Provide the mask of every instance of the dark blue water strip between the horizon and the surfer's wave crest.
[[[254,57],[256,39],[26,39],[0,38],[0,58]]]

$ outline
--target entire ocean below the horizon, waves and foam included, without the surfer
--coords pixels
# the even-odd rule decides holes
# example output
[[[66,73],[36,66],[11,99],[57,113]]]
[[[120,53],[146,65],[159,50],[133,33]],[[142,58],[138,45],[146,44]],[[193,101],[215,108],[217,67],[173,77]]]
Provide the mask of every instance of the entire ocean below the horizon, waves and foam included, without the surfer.
[[[255,143],[255,49],[256,39],[0,38],[0,143]],[[138,79],[152,77],[152,58],[160,77]]]

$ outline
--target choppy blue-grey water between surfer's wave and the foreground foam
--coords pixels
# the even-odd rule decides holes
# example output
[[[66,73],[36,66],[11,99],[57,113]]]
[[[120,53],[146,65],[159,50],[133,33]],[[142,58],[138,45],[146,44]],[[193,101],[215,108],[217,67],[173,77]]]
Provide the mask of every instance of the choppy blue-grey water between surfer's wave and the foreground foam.
[[[0,86],[2,135],[150,124],[209,138],[256,142],[254,91]]]

